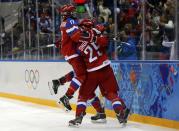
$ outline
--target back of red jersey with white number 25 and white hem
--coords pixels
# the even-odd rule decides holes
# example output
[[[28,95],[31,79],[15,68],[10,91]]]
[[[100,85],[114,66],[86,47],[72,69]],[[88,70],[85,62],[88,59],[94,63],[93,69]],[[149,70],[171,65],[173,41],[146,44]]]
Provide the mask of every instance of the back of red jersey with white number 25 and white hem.
[[[83,37],[77,45],[77,51],[83,56],[88,72],[99,70],[110,64],[104,48],[101,48],[94,39],[95,34],[90,30],[88,36]]]

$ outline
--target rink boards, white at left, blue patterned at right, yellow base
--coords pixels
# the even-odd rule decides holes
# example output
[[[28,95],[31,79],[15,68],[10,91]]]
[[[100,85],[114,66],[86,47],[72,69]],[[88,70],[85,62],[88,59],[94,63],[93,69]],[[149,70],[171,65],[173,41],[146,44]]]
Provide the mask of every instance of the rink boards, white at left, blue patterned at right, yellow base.
[[[120,96],[134,115],[130,120],[179,129],[179,62],[112,62]],[[51,95],[48,81],[71,71],[59,61],[1,61],[0,96],[57,107],[69,83]],[[99,94],[99,92],[97,91]],[[72,99],[75,109],[77,93]],[[115,117],[104,101],[108,116]],[[88,112],[95,113],[89,107]]]

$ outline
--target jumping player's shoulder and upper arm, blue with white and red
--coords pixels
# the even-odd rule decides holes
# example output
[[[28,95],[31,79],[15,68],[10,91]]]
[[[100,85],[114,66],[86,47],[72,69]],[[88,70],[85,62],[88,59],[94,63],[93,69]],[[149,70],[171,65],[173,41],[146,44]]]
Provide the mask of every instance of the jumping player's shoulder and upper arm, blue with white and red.
[[[74,19],[67,19],[66,33],[72,41],[78,42],[81,36],[81,30],[78,27],[78,22]]]

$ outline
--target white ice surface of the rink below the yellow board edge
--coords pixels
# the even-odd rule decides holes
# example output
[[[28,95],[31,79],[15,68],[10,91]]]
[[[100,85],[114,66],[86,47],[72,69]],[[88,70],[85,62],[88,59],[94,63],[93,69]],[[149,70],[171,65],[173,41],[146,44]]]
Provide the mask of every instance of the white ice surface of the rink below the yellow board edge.
[[[74,112],[0,98],[0,131],[176,131],[136,122],[121,127],[113,118],[108,118],[106,124],[93,124],[90,114],[79,128],[69,127],[68,121],[73,118]]]

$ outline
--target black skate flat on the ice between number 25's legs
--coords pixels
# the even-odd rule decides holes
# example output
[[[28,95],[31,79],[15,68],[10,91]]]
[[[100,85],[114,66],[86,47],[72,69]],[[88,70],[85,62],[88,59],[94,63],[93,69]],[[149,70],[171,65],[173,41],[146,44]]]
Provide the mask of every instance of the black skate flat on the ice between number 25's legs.
[[[105,113],[99,113],[97,112],[97,114],[95,116],[91,117],[91,122],[93,123],[106,123],[106,114]]]

